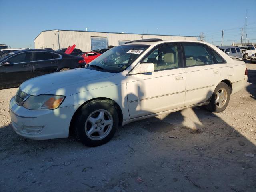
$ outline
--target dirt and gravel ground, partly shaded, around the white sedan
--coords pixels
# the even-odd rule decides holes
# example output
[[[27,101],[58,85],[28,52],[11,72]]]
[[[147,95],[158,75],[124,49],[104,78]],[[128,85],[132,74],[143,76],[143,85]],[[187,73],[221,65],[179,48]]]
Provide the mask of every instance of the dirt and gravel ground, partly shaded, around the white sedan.
[[[0,90],[0,191],[255,192],[256,64],[218,114],[192,108],[122,126],[103,146],[30,140],[10,124]]]

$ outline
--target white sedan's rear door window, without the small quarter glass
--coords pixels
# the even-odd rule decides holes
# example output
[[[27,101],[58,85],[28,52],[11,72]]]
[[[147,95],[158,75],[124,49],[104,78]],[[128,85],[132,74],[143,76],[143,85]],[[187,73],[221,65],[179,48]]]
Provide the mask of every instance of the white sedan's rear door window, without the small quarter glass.
[[[206,46],[199,44],[183,44],[186,66],[214,64],[213,56]]]

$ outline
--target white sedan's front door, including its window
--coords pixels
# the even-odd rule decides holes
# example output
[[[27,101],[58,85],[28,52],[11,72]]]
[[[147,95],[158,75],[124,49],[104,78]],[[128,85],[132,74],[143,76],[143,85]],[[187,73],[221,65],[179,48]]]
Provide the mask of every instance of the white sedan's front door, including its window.
[[[186,74],[180,50],[179,44],[159,46],[141,61],[154,63],[154,72],[126,76],[130,118],[184,107]]]

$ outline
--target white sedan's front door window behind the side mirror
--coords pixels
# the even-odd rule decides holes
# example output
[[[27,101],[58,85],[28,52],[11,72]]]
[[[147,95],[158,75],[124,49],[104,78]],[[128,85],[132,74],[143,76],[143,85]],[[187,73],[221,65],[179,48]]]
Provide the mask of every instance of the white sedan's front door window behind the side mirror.
[[[154,71],[179,68],[178,46],[168,45],[153,50],[142,63],[154,63]]]

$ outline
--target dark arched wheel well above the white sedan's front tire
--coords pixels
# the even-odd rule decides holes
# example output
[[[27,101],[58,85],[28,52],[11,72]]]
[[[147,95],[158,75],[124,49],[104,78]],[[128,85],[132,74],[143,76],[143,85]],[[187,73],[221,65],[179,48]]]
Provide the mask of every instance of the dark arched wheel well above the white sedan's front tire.
[[[88,100],[88,101],[84,102],[84,103],[76,110],[76,112],[75,112],[74,115],[72,116],[72,119],[71,119],[71,122],[70,122],[70,125],[69,125],[69,134],[74,133],[74,123],[75,123],[76,115],[77,115],[77,113],[79,112],[80,108],[82,108],[82,106],[86,105],[87,103],[89,103],[89,102],[91,102],[91,101],[93,101],[93,100],[106,100],[106,102],[112,104],[112,105],[115,107],[115,109],[116,109],[116,111],[117,111],[117,113],[118,113],[118,120],[119,120],[118,124],[119,124],[119,125],[122,125],[122,122],[123,122],[123,113],[122,113],[122,110],[121,110],[120,106],[119,106],[114,100],[112,100],[112,99],[110,99],[110,98],[105,98],[105,97],[93,98],[93,99],[91,99],[91,100]]]

